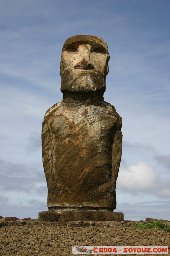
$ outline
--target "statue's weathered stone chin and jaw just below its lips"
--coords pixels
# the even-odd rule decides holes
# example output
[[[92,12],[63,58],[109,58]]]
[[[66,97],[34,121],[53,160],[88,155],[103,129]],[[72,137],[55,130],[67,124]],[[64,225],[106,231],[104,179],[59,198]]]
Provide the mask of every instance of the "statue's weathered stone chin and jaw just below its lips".
[[[104,74],[85,72],[69,76],[70,79],[62,79],[61,91],[70,92],[105,92]]]

